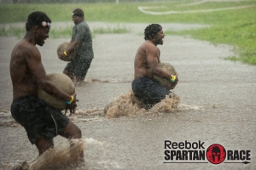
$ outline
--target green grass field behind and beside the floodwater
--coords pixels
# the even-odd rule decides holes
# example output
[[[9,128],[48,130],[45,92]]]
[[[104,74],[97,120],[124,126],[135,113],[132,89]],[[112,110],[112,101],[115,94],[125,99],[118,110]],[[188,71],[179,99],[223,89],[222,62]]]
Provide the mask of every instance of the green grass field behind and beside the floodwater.
[[[233,45],[238,58],[230,56],[230,59],[241,60],[244,63],[256,65],[256,0],[252,1],[231,1],[231,2],[207,2],[199,1],[173,1],[168,3],[76,3],[76,4],[1,4],[0,23],[25,22],[27,14],[35,10],[42,10],[55,21],[70,21],[74,8],[82,8],[85,20],[106,21],[113,23],[128,22],[149,22],[149,23],[196,23],[207,24],[211,27],[189,31],[165,31],[166,34],[175,34],[194,37],[212,43],[226,43]],[[250,6],[249,6],[250,5]],[[138,7],[146,8],[146,11],[163,14],[144,14]],[[247,7],[248,8],[240,8]],[[221,10],[217,10],[217,9]],[[225,8],[236,8],[227,10]],[[217,11],[205,12],[203,10],[214,9]],[[177,14],[164,14],[176,11]],[[187,13],[192,11],[193,13]],[[196,12],[198,11],[198,12]],[[182,13],[183,14],[178,14]],[[194,13],[195,12],[195,13]],[[12,33],[11,33],[12,31]],[[0,36],[11,36],[19,34],[19,28],[6,30],[0,28]],[[70,28],[55,31],[57,35],[70,34]],[[94,33],[123,33],[125,28],[114,30],[103,30],[98,28]]]

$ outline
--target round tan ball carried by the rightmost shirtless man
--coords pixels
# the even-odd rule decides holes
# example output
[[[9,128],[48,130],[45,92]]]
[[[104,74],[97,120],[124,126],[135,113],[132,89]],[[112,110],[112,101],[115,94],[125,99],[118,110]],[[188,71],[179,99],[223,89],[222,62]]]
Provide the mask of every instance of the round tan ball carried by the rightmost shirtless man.
[[[163,71],[166,71],[167,73],[169,73],[171,75],[177,75],[177,71],[175,70],[173,65],[171,65],[169,63],[160,63],[159,66]],[[171,81],[166,80],[165,78],[160,78],[160,77],[154,76],[154,79],[158,80],[160,82],[160,84],[163,85],[164,87],[166,87],[167,89],[171,89],[171,87],[175,88],[174,84]]]

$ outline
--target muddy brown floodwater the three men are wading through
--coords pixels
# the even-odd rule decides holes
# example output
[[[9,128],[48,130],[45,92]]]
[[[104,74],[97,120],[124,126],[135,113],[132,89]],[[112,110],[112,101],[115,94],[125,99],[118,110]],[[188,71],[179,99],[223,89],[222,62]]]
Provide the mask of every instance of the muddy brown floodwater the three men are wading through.
[[[70,116],[82,129],[84,164],[67,169],[255,169],[256,67],[224,60],[234,55],[230,46],[166,36],[164,45],[159,47],[160,59],[172,63],[178,72],[179,82],[173,90],[180,99],[177,108],[127,111],[128,105],[126,115],[105,116],[106,106],[113,105],[113,101],[129,104],[132,99],[133,59],[143,42],[140,33],[145,26],[131,25],[131,33],[94,38],[95,59],[87,83],[76,84],[78,112]],[[169,27],[177,29],[175,25]],[[63,41],[68,39],[48,39],[44,47],[39,47],[47,72],[62,71],[66,65],[55,54]],[[0,169],[23,161],[30,164],[38,157],[25,130],[9,113],[9,56],[16,42],[15,37],[0,37]],[[205,160],[207,163],[165,164],[165,140],[201,140],[205,150],[211,144],[222,144],[226,150],[250,150],[251,163],[237,163],[239,160],[213,165]],[[67,139],[55,138],[56,146],[63,144],[67,144]]]

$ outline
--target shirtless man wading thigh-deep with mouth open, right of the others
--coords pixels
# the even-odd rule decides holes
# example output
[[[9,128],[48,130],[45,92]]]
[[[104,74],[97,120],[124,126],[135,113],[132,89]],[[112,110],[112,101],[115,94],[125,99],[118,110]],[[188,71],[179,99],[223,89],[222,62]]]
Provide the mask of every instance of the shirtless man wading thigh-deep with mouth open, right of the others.
[[[158,24],[149,25],[144,31],[144,36],[145,42],[137,49],[135,56],[134,80],[131,88],[137,98],[150,108],[170,94],[169,90],[175,88],[178,79],[177,75],[170,75],[158,66],[160,49],[157,45],[162,45],[165,37],[162,27]],[[172,88],[167,89],[162,86],[160,82],[154,80],[154,75],[173,82]]]

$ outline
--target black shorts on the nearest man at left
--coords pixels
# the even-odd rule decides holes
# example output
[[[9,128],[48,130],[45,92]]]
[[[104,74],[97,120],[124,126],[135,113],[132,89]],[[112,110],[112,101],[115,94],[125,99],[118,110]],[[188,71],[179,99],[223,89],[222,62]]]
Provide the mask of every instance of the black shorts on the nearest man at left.
[[[15,99],[11,114],[16,122],[25,127],[27,137],[35,144],[38,137],[53,139],[63,133],[69,119],[61,111],[47,105],[35,95]]]

